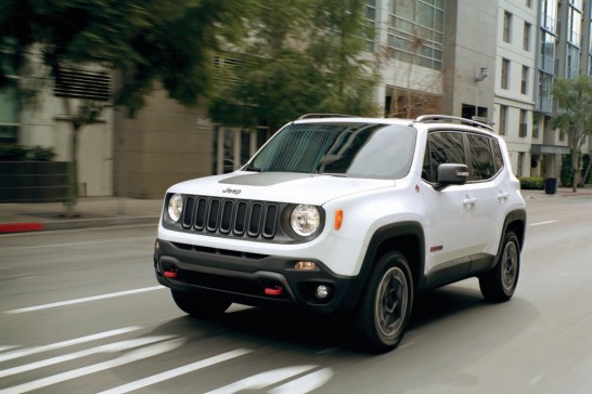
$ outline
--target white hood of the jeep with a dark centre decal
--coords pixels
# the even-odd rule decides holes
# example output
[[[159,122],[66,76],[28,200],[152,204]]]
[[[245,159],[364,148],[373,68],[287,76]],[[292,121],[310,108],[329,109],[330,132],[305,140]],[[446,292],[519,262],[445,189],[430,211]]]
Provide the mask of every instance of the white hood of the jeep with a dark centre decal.
[[[392,180],[369,180],[325,174],[236,171],[179,183],[169,193],[310,203],[395,185]]]

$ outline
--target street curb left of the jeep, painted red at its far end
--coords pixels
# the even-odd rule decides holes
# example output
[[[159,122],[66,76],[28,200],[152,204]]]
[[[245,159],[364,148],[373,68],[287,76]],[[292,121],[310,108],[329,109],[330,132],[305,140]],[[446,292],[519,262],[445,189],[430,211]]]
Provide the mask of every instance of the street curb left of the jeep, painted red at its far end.
[[[136,216],[136,218],[98,218],[98,219],[75,219],[60,222],[33,222],[33,223],[5,223],[0,224],[0,234],[42,232],[53,229],[75,229],[90,227],[106,227],[114,225],[154,224],[158,225],[160,216]]]

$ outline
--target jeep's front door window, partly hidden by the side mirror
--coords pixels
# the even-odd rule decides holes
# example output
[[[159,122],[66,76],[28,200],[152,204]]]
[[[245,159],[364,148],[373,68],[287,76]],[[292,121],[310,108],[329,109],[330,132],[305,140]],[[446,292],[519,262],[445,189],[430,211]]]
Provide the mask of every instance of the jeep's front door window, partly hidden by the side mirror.
[[[445,163],[465,163],[463,136],[451,131],[430,132],[427,134],[422,178],[437,182],[438,166]]]

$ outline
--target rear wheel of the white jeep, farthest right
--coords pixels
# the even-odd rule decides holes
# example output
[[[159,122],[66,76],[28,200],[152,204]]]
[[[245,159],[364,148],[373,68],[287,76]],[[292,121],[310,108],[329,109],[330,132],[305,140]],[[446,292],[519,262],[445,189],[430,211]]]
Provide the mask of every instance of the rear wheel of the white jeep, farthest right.
[[[502,253],[493,270],[479,277],[481,294],[488,301],[504,302],[512,298],[520,272],[520,244],[513,232],[507,232]]]

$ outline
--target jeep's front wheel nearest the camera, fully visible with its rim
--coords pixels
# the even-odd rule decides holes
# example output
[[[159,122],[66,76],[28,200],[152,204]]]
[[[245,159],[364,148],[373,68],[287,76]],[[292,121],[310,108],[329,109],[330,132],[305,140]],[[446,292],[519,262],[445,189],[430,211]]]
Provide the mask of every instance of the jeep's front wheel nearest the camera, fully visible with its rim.
[[[403,338],[413,305],[413,280],[403,254],[384,254],[370,277],[356,314],[356,326],[363,347],[385,353]]]

